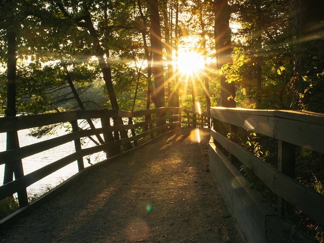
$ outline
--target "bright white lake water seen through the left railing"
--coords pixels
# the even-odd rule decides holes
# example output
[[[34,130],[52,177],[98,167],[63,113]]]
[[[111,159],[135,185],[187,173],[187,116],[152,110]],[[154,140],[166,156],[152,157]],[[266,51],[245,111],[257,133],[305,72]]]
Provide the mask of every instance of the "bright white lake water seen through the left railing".
[[[45,136],[43,138],[37,139],[37,138],[31,137],[31,136],[28,136],[29,132],[30,131],[28,129],[18,131],[20,147],[57,137],[56,135],[49,135],[49,136]],[[58,132],[58,135],[66,134],[64,128],[58,129],[57,132]],[[0,151],[6,150],[6,144],[7,144],[6,139],[7,139],[6,133],[0,133]],[[83,144],[83,148],[93,146],[93,145],[94,145],[94,143],[89,141],[89,142],[86,142],[85,144]],[[42,168],[42,167],[60,159],[60,158],[65,157],[73,152],[75,152],[75,148],[74,148],[74,142],[72,141],[72,142],[57,146],[55,148],[46,150],[44,152],[37,153],[32,156],[23,158],[22,162],[23,162],[24,174],[27,175],[39,168]],[[90,159],[92,164],[95,164],[98,161],[103,160],[105,158],[105,155],[103,152],[101,152],[98,154],[91,155],[88,158]],[[85,167],[90,166],[90,164],[88,164],[88,160],[86,159],[86,157],[84,157],[84,164],[85,164]],[[5,171],[5,165],[1,165],[0,166],[0,185],[3,185],[4,171]],[[70,165],[54,172],[53,174],[43,178],[42,180],[39,180],[36,183],[30,185],[29,187],[27,187],[27,192],[29,195],[33,195],[35,193],[38,193],[38,194],[43,193],[44,191],[47,191],[47,188],[55,187],[56,185],[60,184],[62,181],[66,180],[67,178],[76,174],[77,172],[78,172],[77,163],[76,163],[76,161],[74,161],[72,164],[70,164]]]

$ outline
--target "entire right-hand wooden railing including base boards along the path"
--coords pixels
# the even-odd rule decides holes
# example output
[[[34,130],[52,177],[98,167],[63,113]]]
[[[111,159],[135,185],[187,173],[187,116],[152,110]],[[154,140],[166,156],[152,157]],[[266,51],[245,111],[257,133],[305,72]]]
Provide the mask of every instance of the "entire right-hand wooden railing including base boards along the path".
[[[230,161],[234,162],[235,159],[238,159],[242,164],[248,166],[273,193],[277,194],[279,214],[282,214],[281,204],[285,200],[313,220],[324,225],[324,195],[295,180],[296,146],[324,153],[323,114],[286,110],[251,110],[219,107],[212,108],[211,118],[213,121],[213,128],[211,129],[213,141],[210,143],[211,170],[213,170],[215,177],[220,182],[223,188],[222,191],[234,214],[236,212],[238,217],[248,218],[247,208],[252,207],[252,203],[247,203],[250,191],[245,195],[245,192],[243,193],[241,189],[244,187],[245,182],[243,181],[245,178],[242,179],[241,174],[238,170],[235,170]],[[278,140],[277,170],[236,143],[235,136],[232,135],[237,133],[238,127]],[[222,133],[220,132],[221,130],[226,132]],[[229,139],[226,134],[232,134],[231,138]],[[224,155],[222,149],[226,149],[229,152],[229,159]],[[231,171],[227,175],[235,176],[232,179],[228,178],[226,170]],[[236,186],[235,183],[237,183]],[[250,201],[252,202],[253,200]],[[254,201],[258,200],[254,199]],[[251,216],[251,219],[256,222],[254,226],[251,224],[251,229],[248,230],[256,234],[257,227],[263,227],[263,233],[266,235],[270,231],[267,228],[269,227],[267,225],[268,221],[261,217],[258,219],[258,210],[256,208],[263,211],[265,217],[272,214],[269,213],[270,211],[262,209],[261,206],[255,207],[250,214],[254,214]],[[246,215],[244,215],[245,213]],[[246,225],[248,224],[244,222],[244,219],[241,222]],[[243,227],[247,227],[246,225]],[[262,242],[262,240],[259,240],[255,241]],[[254,242],[254,240],[251,239],[251,242]]]

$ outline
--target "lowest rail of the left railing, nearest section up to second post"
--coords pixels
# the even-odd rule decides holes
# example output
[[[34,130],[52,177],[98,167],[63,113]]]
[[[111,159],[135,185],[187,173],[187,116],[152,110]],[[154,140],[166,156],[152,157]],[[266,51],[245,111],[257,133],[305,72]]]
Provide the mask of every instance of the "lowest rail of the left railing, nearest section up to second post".
[[[42,167],[34,172],[29,173],[17,180],[9,182],[5,185],[0,186],[0,200],[16,193],[19,190],[25,189],[36,181],[52,174],[53,172],[71,164],[79,157],[82,157],[82,151],[72,153],[64,158],[61,158],[47,166]]]

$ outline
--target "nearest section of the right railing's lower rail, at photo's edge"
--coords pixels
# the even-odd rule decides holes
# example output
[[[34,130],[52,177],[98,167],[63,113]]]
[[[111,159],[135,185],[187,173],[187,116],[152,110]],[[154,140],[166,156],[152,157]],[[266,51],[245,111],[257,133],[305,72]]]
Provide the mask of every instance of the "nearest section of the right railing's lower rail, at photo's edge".
[[[303,213],[324,225],[324,195],[277,172],[274,175],[274,193]]]

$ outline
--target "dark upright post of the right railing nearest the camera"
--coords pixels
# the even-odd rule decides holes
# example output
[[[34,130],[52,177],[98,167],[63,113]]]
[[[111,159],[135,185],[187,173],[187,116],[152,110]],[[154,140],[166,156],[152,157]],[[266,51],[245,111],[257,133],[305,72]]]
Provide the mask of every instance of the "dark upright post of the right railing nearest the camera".
[[[296,146],[291,143],[278,140],[278,171],[295,179]],[[293,206],[278,196],[278,213],[285,216],[293,211]]]

